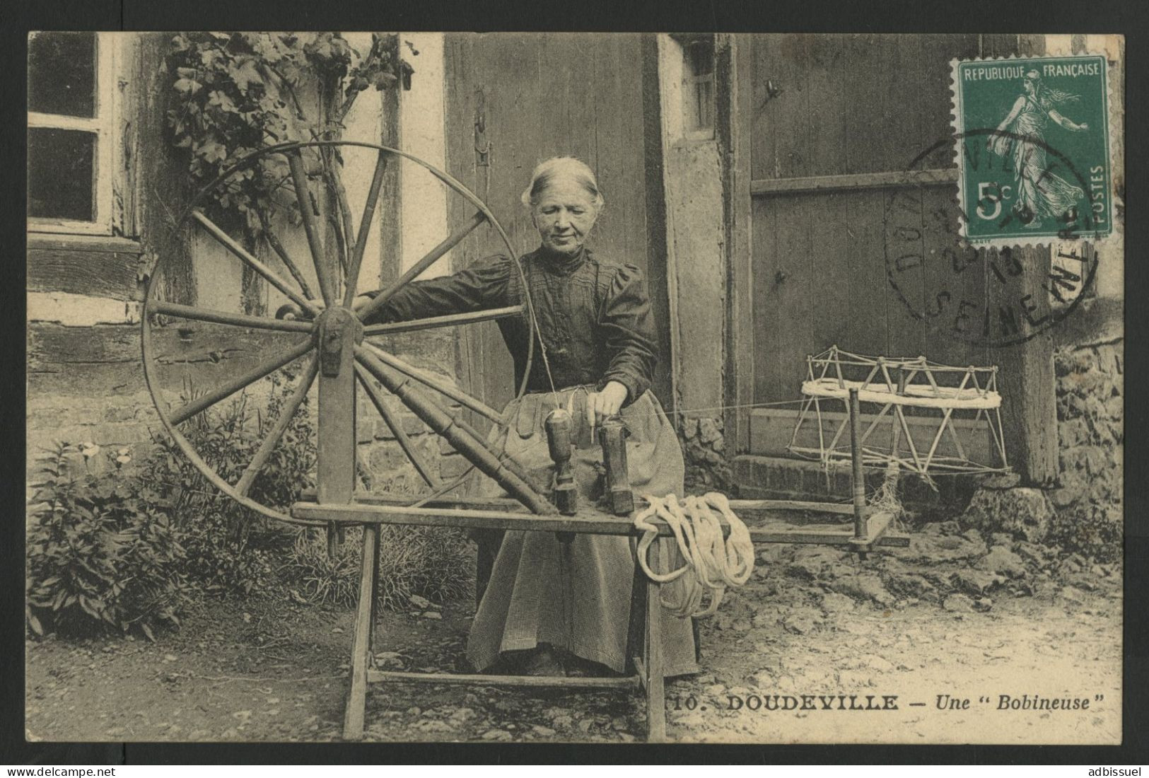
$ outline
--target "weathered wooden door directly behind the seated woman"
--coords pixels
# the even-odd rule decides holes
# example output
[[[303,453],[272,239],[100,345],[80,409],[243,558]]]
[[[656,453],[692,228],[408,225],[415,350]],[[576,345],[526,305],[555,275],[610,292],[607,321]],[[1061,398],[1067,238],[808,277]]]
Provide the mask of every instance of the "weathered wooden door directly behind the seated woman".
[[[491,207],[520,254],[539,245],[520,202],[534,165],[555,155],[591,165],[607,205],[588,245],[647,275],[658,331],[668,338],[658,392],[669,386],[670,360],[664,252],[656,249],[661,169],[646,165],[651,139],[660,148],[657,110],[643,109],[651,97],[657,106],[651,48],[653,40],[638,34],[448,34],[447,163]],[[463,203],[452,206],[453,225],[470,216]],[[487,231],[456,252],[455,267],[496,251],[500,244]],[[463,380],[479,395],[504,401],[512,396],[510,357],[494,324],[476,330],[464,339]]]

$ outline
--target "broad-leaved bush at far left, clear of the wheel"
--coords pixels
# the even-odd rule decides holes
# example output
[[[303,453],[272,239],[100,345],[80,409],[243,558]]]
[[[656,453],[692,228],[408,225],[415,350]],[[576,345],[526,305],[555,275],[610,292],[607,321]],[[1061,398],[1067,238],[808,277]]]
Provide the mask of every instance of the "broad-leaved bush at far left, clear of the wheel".
[[[28,527],[25,614],[37,634],[94,634],[139,626],[148,638],[161,624],[178,625],[186,584],[184,549],[169,504],[119,454],[102,475],[74,476],[69,456],[98,455],[60,444],[33,484]]]

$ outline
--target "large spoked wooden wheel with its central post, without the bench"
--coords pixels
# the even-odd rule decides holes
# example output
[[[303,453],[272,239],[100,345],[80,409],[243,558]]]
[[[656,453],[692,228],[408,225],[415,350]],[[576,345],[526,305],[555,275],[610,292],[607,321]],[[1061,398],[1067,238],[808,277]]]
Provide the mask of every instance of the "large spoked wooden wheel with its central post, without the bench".
[[[372,149],[377,154],[375,171],[363,202],[358,228],[353,225],[350,206],[346,191],[339,182],[339,167],[331,164],[331,159],[339,147],[358,147]],[[233,176],[245,175],[261,159],[268,155],[286,157],[291,190],[299,203],[303,231],[310,254],[310,268],[314,274],[304,272],[284,248],[286,241],[270,234],[268,244],[277,255],[277,261],[265,261],[247,251],[234,237],[222,226],[214,223],[203,211],[202,206],[216,187],[226,186]],[[379,205],[380,190],[388,164],[398,163],[400,159],[409,160],[447,186],[456,195],[465,199],[475,207],[475,215],[462,226],[446,237],[418,262],[411,265],[391,286],[383,290],[373,300],[355,305],[356,282],[367,247],[368,236]],[[313,168],[323,169],[323,182],[327,186],[329,197],[316,197],[308,177],[308,161]],[[326,165],[323,168],[322,165]],[[326,223],[323,221],[323,203],[333,203],[332,219],[341,239],[333,249],[324,245]],[[272,316],[253,316],[211,309],[201,305],[180,305],[162,298],[165,287],[164,274],[169,268],[165,259],[160,257],[152,270],[145,295],[141,315],[141,341],[144,356],[144,376],[148,392],[155,403],[160,421],[177,446],[191,460],[203,476],[237,502],[269,518],[293,524],[318,525],[321,522],[295,518],[290,514],[275,509],[254,500],[250,496],[252,485],[256,476],[267,465],[277,446],[283,444],[292,417],[299,410],[313,384],[318,380],[318,415],[316,424],[316,447],[318,452],[317,493],[319,502],[350,502],[356,479],[357,446],[355,441],[355,401],[356,384],[362,387],[375,411],[391,429],[396,442],[402,448],[415,471],[422,477],[431,493],[447,491],[455,485],[444,484],[435,469],[431,468],[424,456],[408,438],[401,419],[394,417],[386,402],[386,393],[399,398],[432,431],[440,434],[473,468],[494,478],[507,491],[533,513],[550,513],[550,504],[539,496],[525,478],[509,463],[502,462],[484,438],[469,426],[460,414],[450,413],[435,395],[447,398],[450,403],[461,406],[479,414],[496,424],[502,424],[502,415],[487,406],[480,399],[473,398],[454,385],[437,378],[388,352],[384,345],[372,342],[375,338],[398,332],[431,330],[462,324],[493,321],[508,316],[524,316],[530,328],[529,341],[533,357],[534,311],[530,296],[524,294],[524,303],[508,308],[480,310],[453,316],[437,316],[392,324],[363,325],[363,321],[391,299],[398,291],[423,274],[452,248],[463,241],[481,224],[488,224],[501,239],[507,254],[523,279],[523,270],[506,231],[495,219],[491,210],[479,198],[460,182],[438,170],[433,165],[410,154],[375,144],[355,141],[310,141],[271,146],[244,157],[230,170],[224,171],[215,182],[205,187],[192,201],[177,225],[182,234],[202,230],[213,240],[226,249],[232,261],[246,265],[278,290],[295,308],[292,318]],[[191,239],[191,238],[188,238]],[[282,268],[282,269],[280,269]],[[284,272],[286,271],[286,272]],[[316,282],[318,295],[308,283],[308,276]],[[526,290],[526,284],[520,284]],[[259,363],[241,376],[210,387],[202,395],[186,401],[172,400],[175,390],[162,383],[161,367],[156,362],[153,344],[153,330],[164,319],[187,319],[221,325],[230,325],[239,330],[254,330],[264,333],[283,336],[283,347],[271,351]],[[223,349],[226,344],[219,344]],[[223,478],[219,472],[207,463],[201,453],[180,431],[180,426],[203,414],[216,403],[236,395],[267,376],[277,371],[302,365],[299,384],[284,403],[277,421],[252,455],[241,476],[234,483]],[[529,372],[529,370],[527,370]],[[518,394],[525,391],[526,376],[518,386]]]

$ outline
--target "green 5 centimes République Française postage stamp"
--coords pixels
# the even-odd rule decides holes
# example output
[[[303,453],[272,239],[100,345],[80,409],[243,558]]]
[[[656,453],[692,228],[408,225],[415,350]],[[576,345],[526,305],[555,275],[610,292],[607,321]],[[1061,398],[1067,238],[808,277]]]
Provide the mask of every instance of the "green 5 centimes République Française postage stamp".
[[[1108,62],[954,60],[961,234],[976,246],[1112,232]]]

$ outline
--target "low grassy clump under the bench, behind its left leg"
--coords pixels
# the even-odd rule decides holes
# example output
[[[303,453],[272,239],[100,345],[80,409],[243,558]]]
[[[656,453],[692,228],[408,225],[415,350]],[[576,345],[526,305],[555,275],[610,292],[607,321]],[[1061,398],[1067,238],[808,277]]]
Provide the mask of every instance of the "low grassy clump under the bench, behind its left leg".
[[[475,570],[464,532],[387,525],[380,532],[378,596],[384,608],[409,608],[414,595],[445,602],[470,592]],[[362,531],[352,529],[332,560],[322,531],[301,532],[284,572],[291,581],[301,584],[301,595],[311,602],[354,604],[358,596],[362,546]]]

